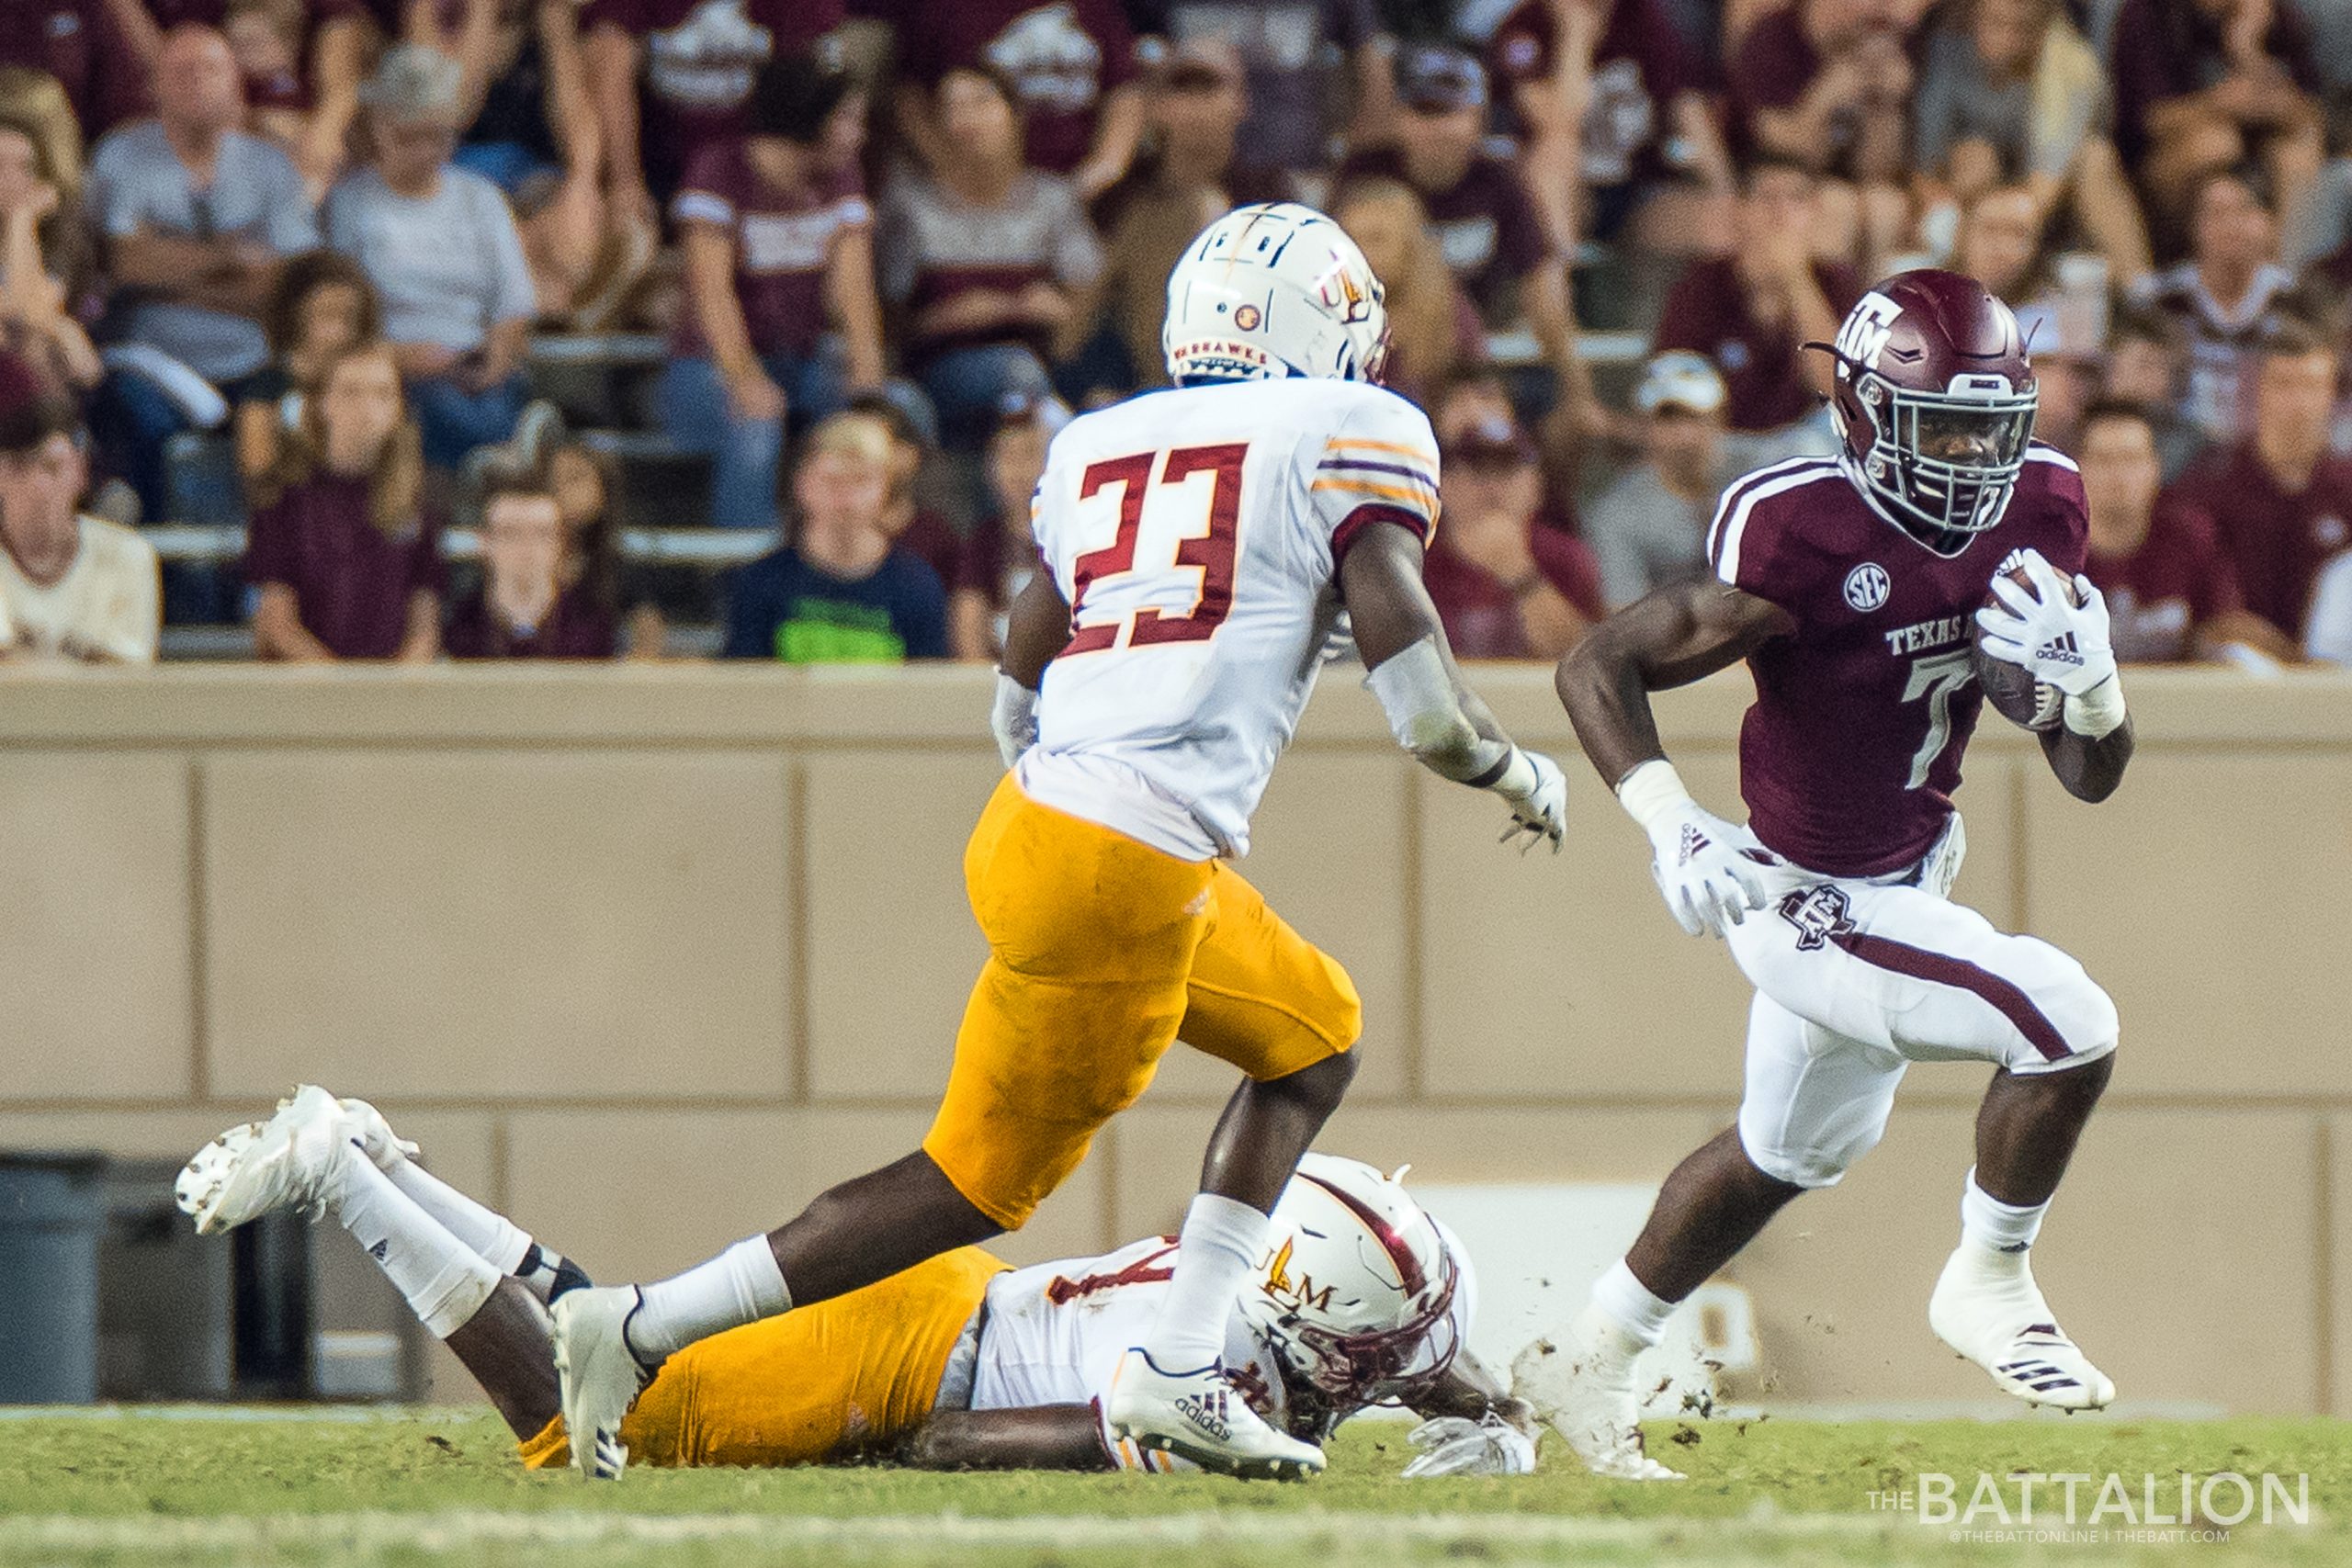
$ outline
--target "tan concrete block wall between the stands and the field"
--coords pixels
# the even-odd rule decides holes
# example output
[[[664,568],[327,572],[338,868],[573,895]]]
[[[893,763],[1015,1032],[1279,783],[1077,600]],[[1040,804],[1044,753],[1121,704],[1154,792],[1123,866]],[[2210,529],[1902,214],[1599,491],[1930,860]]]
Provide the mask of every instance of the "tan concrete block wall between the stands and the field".
[[[1477,682],[1573,755],[1548,672]],[[1745,691],[1663,703],[1717,806]],[[2124,1011],[2037,1269],[2126,1396],[2345,1413],[2352,682],[2131,691],[2110,806],[1999,722],[1962,795],[1959,893]],[[691,1262],[922,1135],[981,954],[985,705],[948,668],[0,677],[0,1147],[183,1154],[315,1079],[597,1274]],[[1364,992],[1327,1147],[1653,1182],[1729,1119],[1748,992],[1571,780],[1569,853],[1501,851],[1494,802],[1399,759],[1334,672],[1247,863]],[[1228,1084],[1171,1058],[1009,1253],[1169,1225]],[[1924,1321],[1980,1088],[1915,1072],[1886,1143],[1733,1265],[1776,1396],[1980,1394]]]

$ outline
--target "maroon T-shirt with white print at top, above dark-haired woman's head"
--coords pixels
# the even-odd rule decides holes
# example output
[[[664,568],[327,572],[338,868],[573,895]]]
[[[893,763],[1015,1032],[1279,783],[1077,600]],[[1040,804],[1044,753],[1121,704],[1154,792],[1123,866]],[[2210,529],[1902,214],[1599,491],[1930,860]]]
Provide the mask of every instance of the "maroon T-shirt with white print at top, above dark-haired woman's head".
[[[842,0],[588,0],[581,33],[621,28],[644,47],[640,158],[670,190],[706,141],[743,134],[750,82],[842,24]]]

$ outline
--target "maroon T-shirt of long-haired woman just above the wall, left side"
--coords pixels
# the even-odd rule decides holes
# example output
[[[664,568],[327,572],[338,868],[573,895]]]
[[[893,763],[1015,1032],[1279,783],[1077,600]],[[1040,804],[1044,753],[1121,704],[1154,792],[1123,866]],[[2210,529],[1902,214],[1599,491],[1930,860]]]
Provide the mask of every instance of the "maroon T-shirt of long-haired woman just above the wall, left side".
[[[390,658],[409,630],[409,597],[440,592],[440,531],[397,536],[369,520],[367,480],[318,475],[254,512],[245,581],[285,583],[301,623],[336,658]]]

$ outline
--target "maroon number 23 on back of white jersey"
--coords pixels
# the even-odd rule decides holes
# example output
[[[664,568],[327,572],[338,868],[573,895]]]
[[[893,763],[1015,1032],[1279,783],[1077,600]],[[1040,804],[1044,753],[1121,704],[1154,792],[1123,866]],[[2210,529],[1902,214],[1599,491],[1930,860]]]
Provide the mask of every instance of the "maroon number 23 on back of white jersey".
[[[1120,531],[1105,548],[1087,550],[1070,564],[1070,644],[1061,651],[1063,658],[1152,642],[1207,642],[1225,623],[1225,616],[1232,614],[1232,559],[1242,524],[1242,461],[1247,456],[1247,442],[1225,442],[1176,447],[1164,454],[1138,451],[1087,465],[1077,482],[1077,498],[1091,501],[1117,487]],[[1160,470],[1157,484],[1152,482],[1155,468]],[[1200,473],[1216,475],[1209,487],[1209,531],[1183,538],[1167,567],[1136,567],[1136,534],[1143,529],[1145,498],[1155,489],[1181,487]],[[1171,616],[1148,607],[1117,621],[1082,623],[1087,595],[1098,583],[1136,574],[1167,581],[1183,571],[1200,571],[1200,595],[1190,611]]]

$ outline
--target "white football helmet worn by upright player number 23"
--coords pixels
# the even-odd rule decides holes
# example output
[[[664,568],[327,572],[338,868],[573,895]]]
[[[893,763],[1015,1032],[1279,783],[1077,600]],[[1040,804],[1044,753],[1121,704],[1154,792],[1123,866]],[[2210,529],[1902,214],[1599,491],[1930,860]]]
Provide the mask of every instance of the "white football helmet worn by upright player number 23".
[[[1381,280],[1338,223],[1298,202],[1235,207],[1169,270],[1169,378],[1378,381]]]

